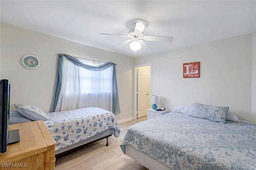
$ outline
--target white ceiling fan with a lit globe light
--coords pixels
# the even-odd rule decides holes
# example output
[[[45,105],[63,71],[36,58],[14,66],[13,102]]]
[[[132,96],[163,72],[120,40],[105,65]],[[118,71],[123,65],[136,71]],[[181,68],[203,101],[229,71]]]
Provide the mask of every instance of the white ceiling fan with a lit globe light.
[[[130,29],[128,32],[128,36],[126,35],[118,35],[118,34],[100,34],[100,35],[110,35],[110,36],[119,36],[119,37],[127,37],[131,38],[130,40],[126,40],[118,45],[116,45],[114,48],[118,48],[122,45],[125,45],[127,43],[130,43],[130,49],[133,51],[137,51],[141,48],[141,44],[146,44],[150,49],[151,47],[144,42],[145,41],[153,41],[153,42],[167,42],[171,43],[173,41],[173,37],[166,37],[166,36],[144,36],[143,32],[146,26],[148,25],[148,22],[137,20],[136,23],[132,24],[134,26],[133,29]],[[143,39],[143,40],[142,40]]]

